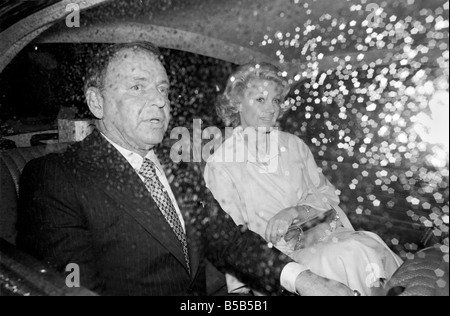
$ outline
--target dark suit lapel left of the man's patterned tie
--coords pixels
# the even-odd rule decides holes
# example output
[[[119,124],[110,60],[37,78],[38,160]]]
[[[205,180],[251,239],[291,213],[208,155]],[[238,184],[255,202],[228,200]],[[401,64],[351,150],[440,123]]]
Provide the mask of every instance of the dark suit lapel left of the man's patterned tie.
[[[128,161],[98,131],[81,145],[79,161],[86,179],[121,205],[187,269],[183,247],[142,180]]]

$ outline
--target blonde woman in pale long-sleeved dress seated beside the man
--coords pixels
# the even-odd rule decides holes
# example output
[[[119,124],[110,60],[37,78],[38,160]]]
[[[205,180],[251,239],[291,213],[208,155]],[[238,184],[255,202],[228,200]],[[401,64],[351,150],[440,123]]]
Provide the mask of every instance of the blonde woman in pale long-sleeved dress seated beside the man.
[[[235,129],[208,160],[206,184],[238,225],[312,272],[362,295],[382,294],[383,282],[402,262],[376,234],[354,231],[339,208],[335,187],[318,170],[308,146],[275,128],[286,111],[288,92],[288,83],[271,64],[247,64],[230,76],[217,112]],[[321,214],[331,217],[322,219]],[[296,239],[286,241],[293,223],[318,218],[314,244],[298,247]],[[231,276],[227,283],[230,292],[248,291]]]

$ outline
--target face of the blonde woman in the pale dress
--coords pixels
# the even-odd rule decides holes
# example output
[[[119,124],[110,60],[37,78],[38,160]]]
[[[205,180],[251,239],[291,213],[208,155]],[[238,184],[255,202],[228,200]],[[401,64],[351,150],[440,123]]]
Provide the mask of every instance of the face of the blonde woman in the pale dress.
[[[280,116],[283,87],[271,80],[254,79],[244,91],[239,114],[241,125],[254,128],[274,127]]]

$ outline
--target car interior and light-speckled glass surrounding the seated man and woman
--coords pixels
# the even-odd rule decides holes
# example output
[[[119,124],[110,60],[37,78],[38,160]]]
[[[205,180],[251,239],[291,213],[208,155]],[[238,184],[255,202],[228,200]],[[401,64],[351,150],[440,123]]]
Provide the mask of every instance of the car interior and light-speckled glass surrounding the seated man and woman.
[[[87,61],[136,40],[161,48],[170,128],[192,131],[201,118],[223,130],[214,102],[228,74],[252,60],[279,65],[291,83],[279,127],[309,145],[355,229],[405,261],[390,295],[448,295],[448,1],[66,2],[0,5],[1,296],[97,295],[15,246],[20,175],[90,133]],[[186,194],[204,163],[183,170]],[[208,295],[225,294],[224,275],[207,269]]]

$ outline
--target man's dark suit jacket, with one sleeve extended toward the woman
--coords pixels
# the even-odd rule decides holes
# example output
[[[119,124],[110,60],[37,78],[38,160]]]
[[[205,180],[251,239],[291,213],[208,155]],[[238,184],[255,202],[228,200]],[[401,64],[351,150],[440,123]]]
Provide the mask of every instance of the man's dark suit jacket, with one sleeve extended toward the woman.
[[[78,264],[81,285],[103,295],[204,295],[205,259],[255,289],[280,293],[291,260],[236,226],[206,190],[202,201],[180,205],[189,274],[181,244],[145,185],[95,131],[65,153],[26,166],[17,244],[59,271]]]

